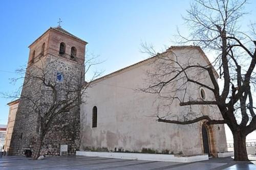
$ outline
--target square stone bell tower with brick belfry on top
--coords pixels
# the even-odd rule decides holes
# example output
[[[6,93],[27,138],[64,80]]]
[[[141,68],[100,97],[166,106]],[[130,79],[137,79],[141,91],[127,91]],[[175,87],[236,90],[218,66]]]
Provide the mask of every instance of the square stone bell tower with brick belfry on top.
[[[65,90],[72,91],[76,89],[77,84],[83,84],[86,44],[86,41],[58,26],[49,28],[29,46],[28,66],[9,154],[23,155],[27,149],[33,152],[36,136],[42,127],[39,120],[52,109],[53,97],[49,94],[50,87],[44,86],[42,78],[46,85],[51,82],[56,87],[57,102],[65,101],[67,96],[71,95],[65,93]],[[72,94],[74,98],[77,97],[76,94]],[[49,129],[41,144],[41,154],[58,155],[61,144],[68,144],[68,154],[74,154],[79,148],[79,106],[54,117]]]

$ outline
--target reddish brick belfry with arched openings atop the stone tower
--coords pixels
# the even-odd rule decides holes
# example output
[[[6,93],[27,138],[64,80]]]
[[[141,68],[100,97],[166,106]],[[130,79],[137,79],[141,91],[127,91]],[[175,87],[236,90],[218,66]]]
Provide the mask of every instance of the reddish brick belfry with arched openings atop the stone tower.
[[[48,54],[82,64],[87,42],[72,35],[61,27],[50,27],[29,45],[28,66]]]

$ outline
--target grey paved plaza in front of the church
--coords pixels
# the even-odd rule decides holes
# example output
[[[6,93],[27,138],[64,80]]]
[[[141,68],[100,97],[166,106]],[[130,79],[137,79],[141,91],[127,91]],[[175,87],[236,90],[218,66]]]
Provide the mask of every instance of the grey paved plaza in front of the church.
[[[158,162],[129,159],[114,159],[87,156],[46,157],[44,160],[32,160],[23,156],[5,156],[0,158],[1,170],[17,169],[188,169],[188,170],[248,170],[256,169],[256,157],[250,162],[236,162],[231,158],[211,158],[194,163]]]

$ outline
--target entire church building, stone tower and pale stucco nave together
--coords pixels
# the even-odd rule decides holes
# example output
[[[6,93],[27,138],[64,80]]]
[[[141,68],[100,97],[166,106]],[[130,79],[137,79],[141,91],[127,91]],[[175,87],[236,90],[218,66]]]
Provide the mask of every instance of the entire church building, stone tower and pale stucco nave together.
[[[51,67],[52,75],[56,76],[61,72],[66,79],[68,75],[78,75],[79,71],[81,72],[77,65],[82,65],[80,60],[84,61],[86,42],[62,28],[50,28],[30,46],[27,69],[30,69],[33,56],[40,54],[36,52],[34,55],[34,50],[41,52],[44,43],[45,59],[58,58],[58,62]],[[66,50],[60,55],[61,43],[65,43]],[[72,47],[76,47],[76,61],[70,55]],[[161,106],[166,106],[169,101],[159,98],[158,94],[142,90],[151,81],[148,79],[148,72],[157,69],[157,58],[163,55],[169,58],[178,56],[184,64],[188,61],[187,56],[192,56],[192,62],[209,64],[200,47],[173,46],[162,54],[90,82],[90,87],[82,95],[80,107],[72,109],[66,116],[59,117],[61,121],[56,122],[56,127],[48,133],[42,147],[44,152],[41,154],[47,152],[49,155],[58,155],[61,144],[68,144],[69,154],[74,154],[77,150],[212,156],[226,152],[224,125],[209,126],[205,121],[190,125],[157,122],[157,116],[172,119],[172,116],[177,118],[187,114],[187,107],[180,106],[177,101],[163,108]],[[36,57],[33,62],[36,62]],[[196,72],[190,74],[197,75]],[[210,78],[204,75],[203,81],[209,83]],[[30,90],[37,89],[31,85],[29,87]],[[168,87],[165,92],[175,88]],[[36,92],[41,92],[40,90],[37,89]],[[28,91],[24,85],[23,93]],[[214,94],[207,89],[193,85],[189,86],[187,93],[194,99],[214,98]],[[7,139],[10,141],[9,150],[14,155],[23,154],[22,151],[32,145],[32,137],[38,132],[35,124],[37,117],[26,109],[26,101],[20,99],[12,137]],[[211,118],[221,119],[218,108],[214,106],[200,105],[193,109]]]

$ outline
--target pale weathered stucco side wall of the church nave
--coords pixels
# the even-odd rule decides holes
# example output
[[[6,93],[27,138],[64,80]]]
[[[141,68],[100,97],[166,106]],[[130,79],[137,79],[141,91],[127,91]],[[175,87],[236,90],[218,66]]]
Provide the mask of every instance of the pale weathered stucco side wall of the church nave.
[[[189,63],[207,64],[197,49],[173,52],[181,62],[186,63],[189,56]],[[172,53],[165,54],[175,57]],[[174,119],[172,117],[174,115],[187,114],[188,107],[181,107],[178,101],[174,101],[170,107],[158,108],[159,103],[168,101],[158,99],[157,94],[136,90],[148,86],[146,71],[156,69],[152,61],[144,61],[112,74],[108,78],[96,80],[92,87],[87,89],[86,95],[83,96],[83,101],[86,103],[81,105],[81,150],[88,150],[90,147],[139,152],[142,148],[146,148],[158,152],[168,150],[170,153],[203,153],[201,122],[184,126],[156,121],[155,115],[158,111],[160,116],[171,112],[167,118]],[[190,74],[197,75],[195,72]],[[202,81],[210,85],[209,78],[204,78]],[[168,93],[174,88],[176,87],[168,86],[163,92]],[[185,98],[189,96],[194,96],[195,99],[200,98],[198,86],[189,84],[188,89]],[[213,97],[209,90],[206,90],[206,94],[207,99]],[[181,92],[178,95],[182,95]],[[96,128],[92,128],[94,106],[98,109]],[[216,107],[193,106],[193,111],[202,112],[215,119],[221,118]],[[212,128],[216,139],[216,150],[226,151],[225,130],[223,126],[218,126]]]

